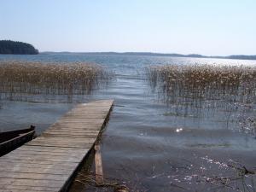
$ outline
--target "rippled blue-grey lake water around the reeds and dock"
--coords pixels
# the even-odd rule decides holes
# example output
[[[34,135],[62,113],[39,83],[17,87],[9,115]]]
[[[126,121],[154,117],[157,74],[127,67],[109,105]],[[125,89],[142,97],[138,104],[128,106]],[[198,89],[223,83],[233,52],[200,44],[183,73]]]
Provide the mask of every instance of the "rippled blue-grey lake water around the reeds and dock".
[[[254,174],[239,175],[242,166],[253,171],[256,167],[255,135],[237,123],[240,112],[231,113],[229,119],[219,108],[176,113],[175,106],[161,102],[145,80],[145,67],[150,65],[256,66],[256,61],[84,54],[0,55],[1,60],[95,62],[114,73],[114,79],[104,89],[73,103],[54,98],[50,102],[2,100],[0,131],[32,124],[41,132],[75,102],[114,99],[113,112],[102,134],[104,177],[119,179],[131,191],[256,190]],[[255,105],[244,113],[255,117]],[[228,178],[233,180],[227,182]],[[73,183],[71,191],[85,189],[83,184]]]

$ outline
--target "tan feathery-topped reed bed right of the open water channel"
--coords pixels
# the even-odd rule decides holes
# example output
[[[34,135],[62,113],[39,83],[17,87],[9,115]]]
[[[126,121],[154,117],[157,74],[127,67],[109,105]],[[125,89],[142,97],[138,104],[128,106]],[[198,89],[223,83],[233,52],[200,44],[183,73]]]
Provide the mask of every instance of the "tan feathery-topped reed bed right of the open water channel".
[[[152,88],[169,103],[256,101],[256,67],[153,66],[147,74]]]

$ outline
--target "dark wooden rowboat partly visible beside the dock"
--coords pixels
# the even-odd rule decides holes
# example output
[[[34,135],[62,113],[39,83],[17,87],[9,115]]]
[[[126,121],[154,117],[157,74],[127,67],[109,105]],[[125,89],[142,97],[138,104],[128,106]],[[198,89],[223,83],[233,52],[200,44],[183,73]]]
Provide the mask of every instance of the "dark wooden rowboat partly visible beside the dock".
[[[34,134],[35,126],[33,125],[28,129],[0,132],[0,157],[31,141]]]

